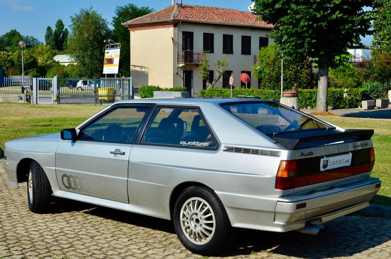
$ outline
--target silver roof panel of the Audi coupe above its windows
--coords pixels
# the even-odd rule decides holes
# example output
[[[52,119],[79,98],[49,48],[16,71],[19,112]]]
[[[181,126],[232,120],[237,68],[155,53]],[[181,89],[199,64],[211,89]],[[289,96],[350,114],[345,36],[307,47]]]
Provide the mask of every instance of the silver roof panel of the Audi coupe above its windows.
[[[123,103],[153,103],[153,104],[182,104],[182,105],[202,105],[204,103],[223,104],[232,102],[273,102],[274,100],[263,100],[256,98],[237,98],[237,97],[177,97],[177,98],[144,98],[118,101],[114,104]]]

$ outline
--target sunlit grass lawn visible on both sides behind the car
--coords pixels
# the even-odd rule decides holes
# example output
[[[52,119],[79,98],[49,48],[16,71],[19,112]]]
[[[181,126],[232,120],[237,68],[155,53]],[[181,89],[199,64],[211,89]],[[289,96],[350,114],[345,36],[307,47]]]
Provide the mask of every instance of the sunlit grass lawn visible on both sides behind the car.
[[[57,133],[74,128],[106,106],[100,105],[34,105],[0,103],[0,147],[14,138]],[[372,176],[382,180],[382,188],[373,203],[391,206],[391,119],[319,118],[345,129],[373,129],[376,162]]]

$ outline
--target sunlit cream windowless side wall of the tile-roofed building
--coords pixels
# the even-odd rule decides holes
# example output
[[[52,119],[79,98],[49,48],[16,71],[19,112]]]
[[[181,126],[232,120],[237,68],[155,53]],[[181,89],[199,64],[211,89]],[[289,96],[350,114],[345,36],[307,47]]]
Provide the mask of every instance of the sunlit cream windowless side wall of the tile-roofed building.
[[[174,30],[171,27],[130,32],[133,86],[173,86]]]

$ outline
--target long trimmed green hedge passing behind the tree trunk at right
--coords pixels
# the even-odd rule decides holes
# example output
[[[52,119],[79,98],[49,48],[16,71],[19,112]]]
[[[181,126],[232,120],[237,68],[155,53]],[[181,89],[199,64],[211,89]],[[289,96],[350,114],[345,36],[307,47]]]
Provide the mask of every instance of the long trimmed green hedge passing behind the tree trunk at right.
[[[316,108],[317,89],[298,89],[299,107]],[[281,92],[278,90],[263,90],[256,88],[236,88],[232,90],[232,96],[256,95],[261,99],[280,99]],[[201,90],[199,96],[203,97],[230,97],[231,90],[227,88],[208,88]],[[368,91],[364,88],[351,88],[346,92],[341,88],[328,88],[328,106],[334,109],[357,108],[361,101],[369,100]]]

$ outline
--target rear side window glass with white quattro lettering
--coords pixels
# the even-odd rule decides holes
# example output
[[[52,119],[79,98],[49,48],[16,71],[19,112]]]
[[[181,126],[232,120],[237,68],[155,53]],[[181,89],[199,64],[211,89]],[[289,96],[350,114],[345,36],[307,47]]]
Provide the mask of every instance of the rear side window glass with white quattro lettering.
[[[196,109],[158,108],[141,142],[214,149],[215,139]]]

